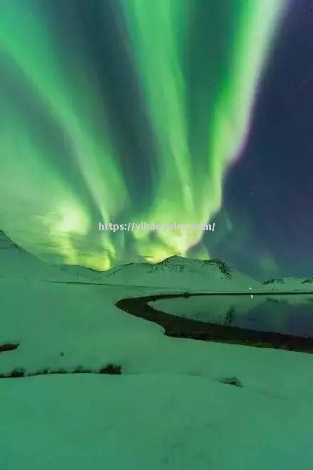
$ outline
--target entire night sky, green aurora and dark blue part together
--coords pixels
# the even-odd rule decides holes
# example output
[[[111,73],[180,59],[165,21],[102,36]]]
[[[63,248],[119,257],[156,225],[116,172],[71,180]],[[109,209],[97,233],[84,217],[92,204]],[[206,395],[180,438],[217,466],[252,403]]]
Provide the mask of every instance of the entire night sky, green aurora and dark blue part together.
[[[1,0],[0,228],[96,269],[312,274],[312,38],[312,0]]]

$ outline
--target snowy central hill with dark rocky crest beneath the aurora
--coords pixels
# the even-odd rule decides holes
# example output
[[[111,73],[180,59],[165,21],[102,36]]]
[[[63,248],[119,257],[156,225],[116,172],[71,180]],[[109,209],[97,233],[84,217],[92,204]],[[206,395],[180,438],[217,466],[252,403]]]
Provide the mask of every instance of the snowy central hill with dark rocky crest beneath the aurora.
[[[107,283],[179,288],[188,291],[246,291],[261,284],[229,268],[218,259],[198,260],[171,256],[157,264],[131,263],[108,271]]]

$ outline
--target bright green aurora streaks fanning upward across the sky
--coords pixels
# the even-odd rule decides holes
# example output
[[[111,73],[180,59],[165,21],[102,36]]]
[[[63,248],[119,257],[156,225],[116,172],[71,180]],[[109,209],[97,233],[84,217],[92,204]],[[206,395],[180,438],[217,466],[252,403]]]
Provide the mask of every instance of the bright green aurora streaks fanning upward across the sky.
[[[96,269],[173,254],[238,261],[250,219],[233,208],[242,225],[229,233],[224,182],[249,159],[288,5],[1,0],[1,228],[43,258]],[[97,230],[215,216],[220,231],[207,241],[201,231]],[[262,270],[275,271],[266,256]]]

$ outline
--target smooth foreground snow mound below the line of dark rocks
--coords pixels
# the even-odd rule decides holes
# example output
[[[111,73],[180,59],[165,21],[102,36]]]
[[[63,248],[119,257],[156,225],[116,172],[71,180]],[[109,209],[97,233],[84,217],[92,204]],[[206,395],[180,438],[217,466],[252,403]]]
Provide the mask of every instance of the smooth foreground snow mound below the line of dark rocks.
[[[8,469],[308,470],[313,461],[303,403],[203,377],[32,377],[2,381],[3,396]]]

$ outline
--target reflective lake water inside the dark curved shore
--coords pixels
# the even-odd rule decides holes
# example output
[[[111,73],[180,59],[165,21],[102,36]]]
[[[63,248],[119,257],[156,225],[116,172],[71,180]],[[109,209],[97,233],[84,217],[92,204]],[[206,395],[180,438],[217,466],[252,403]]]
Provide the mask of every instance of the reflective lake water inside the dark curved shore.
[[[205,323],[313,338],[313,295],[209,295],[156,300],[157,310]]]

